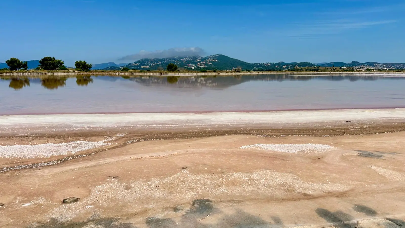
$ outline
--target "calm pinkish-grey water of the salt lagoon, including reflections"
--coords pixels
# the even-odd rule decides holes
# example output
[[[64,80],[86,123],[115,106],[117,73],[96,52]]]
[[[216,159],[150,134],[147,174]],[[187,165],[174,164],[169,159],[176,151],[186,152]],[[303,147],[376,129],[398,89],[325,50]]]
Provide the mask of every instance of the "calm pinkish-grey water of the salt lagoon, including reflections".
[[[0,80],[0,115],[405,107],[405,77],[41,76]]]

